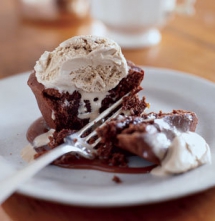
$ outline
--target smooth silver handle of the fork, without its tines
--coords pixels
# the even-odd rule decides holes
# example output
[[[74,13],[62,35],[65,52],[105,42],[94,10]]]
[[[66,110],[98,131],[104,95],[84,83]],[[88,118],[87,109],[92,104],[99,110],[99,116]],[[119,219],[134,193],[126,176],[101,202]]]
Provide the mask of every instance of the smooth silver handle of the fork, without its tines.
[[[76,148],[74,147],[76,150]],[[62,144],[59,147],[49,151],[36,160],[32,161],[23,169],[14,172],[14,174],[0,182],[0,204],[2,204],[12,193],[14,193],[21,184],[33,177],[42,168],[53,162],[58,157],[71,152],[71,145]]]

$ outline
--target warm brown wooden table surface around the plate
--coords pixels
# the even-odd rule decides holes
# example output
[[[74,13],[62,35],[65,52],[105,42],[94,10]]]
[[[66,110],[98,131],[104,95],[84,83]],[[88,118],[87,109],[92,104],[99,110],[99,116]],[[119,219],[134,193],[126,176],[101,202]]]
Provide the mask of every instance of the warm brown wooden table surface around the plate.
[[[31,70],[44,50],[73,35],[90,33],[90,19],[77,25],[37,25],[17,19],[14,1],[1,0],[0,6],[0,78]],[[196,14],[175,16],[163,28],[159,45],[123,52],[139,65],[181,70],[215,82],[214,36],[214,0],[197,0]],[[168,202],[112,209],[65,206],[14,194],[2,205],[0,220],[210,221],[215,220],[214,208],[215,188]]]

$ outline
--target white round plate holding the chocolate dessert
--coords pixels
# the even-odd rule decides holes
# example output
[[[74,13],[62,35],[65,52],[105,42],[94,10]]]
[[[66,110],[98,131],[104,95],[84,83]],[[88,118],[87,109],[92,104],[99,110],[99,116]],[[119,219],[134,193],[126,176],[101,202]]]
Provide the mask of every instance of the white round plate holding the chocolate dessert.
[[[209,143],[215,160],[215,85],[194,76],[146,67],[144,94],[151,110],[186,109],[199,117],[197,132]],[[20,157],[25,133],[39,110],[26,85],[29,73],[0,81],[0,179],[25,165]],[[160,202],[205,190],[215,184],[215,164],[186,174],[160,178],[151,174],[116,174],[48,166],[26,182],[19,193],[69,205],[123,206]]]

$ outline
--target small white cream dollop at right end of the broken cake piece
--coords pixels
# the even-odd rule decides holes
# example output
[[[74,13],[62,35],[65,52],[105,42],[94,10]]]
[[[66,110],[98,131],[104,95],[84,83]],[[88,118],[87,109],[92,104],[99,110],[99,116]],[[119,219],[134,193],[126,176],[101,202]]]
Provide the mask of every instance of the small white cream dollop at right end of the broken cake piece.
[[[173,139],[161,165],[151,173],[160,176],[179,174],[206,163],[211,163],[209,145],[199,134],[189,131]]]

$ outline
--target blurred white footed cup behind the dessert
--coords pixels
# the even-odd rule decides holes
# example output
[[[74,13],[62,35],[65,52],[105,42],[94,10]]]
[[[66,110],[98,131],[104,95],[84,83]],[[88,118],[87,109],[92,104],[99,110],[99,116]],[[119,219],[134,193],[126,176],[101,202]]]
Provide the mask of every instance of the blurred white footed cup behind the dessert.
[[[148,47],[161,40],[159,29],[174,11],[191,14],[194,0],[91,0],[97,20],[92,33],[105,35],[124,48]]]

